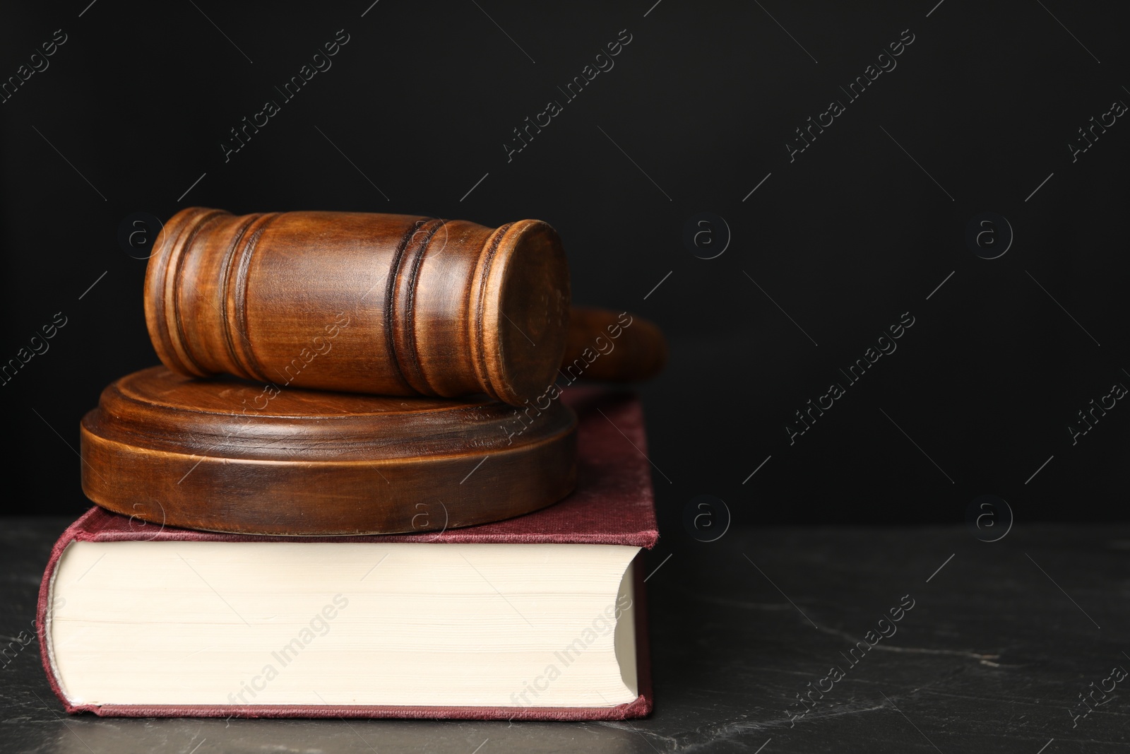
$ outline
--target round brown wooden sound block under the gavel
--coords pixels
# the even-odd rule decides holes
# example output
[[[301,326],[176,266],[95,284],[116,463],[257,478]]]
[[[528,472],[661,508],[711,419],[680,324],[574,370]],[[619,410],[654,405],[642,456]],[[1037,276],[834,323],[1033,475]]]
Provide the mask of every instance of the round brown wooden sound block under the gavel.
[[[238,534],[497,521],[560,500],[576,476],[573,411],[528,409],[515,433],[515,410],[485,397],[279,390],[156,366],[112,383],[82,418],[82,491],[144,521]]]

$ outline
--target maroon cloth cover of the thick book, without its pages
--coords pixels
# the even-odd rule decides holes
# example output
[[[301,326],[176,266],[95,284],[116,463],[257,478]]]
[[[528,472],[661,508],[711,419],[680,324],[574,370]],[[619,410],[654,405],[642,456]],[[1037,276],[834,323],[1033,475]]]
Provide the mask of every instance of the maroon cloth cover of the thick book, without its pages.
[[[651,670],[643,578],[636,569],[635,608],[638,697],[608,708],[536,707],[391,707],[391,705],[73,705],[62,694],[49,652],[47,605],[63,549],[72,541],[428,541],[603,544],[651,548],[659,538],[646,459],[643,411],[636,397],[594,388],[572,388],[562,400],[580,417],[576,489],[554,505],[505,521],[420,535],[359,537],[267,537],[160,527],[111,513],[98,506],[67,528],[51,551],[40,586],[36,626],[43,667],[55,695],[68,712],[105,717],[341,717],[341,718],[466,718],[503,720],[623,720],[651,712]]]

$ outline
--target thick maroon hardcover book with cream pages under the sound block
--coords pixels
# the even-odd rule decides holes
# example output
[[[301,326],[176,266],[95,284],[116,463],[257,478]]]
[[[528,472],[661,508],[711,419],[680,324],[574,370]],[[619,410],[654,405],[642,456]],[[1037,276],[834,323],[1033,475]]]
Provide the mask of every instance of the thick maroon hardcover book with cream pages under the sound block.
[[[52,690],[108,717],[647,714],[642,409],[592,388],[562,400],[580,417],[576,489],[514,519],[269,537],[90,509],[40,590]]]

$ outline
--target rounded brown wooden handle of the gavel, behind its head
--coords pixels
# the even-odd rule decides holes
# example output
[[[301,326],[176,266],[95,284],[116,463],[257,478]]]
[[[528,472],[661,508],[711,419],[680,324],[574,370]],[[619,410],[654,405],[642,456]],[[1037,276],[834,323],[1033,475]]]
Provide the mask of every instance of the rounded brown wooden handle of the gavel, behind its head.
[[[637,382],[666,363],[667,340],[654,323],[628,312],[573,306],[562,362],[567,379]]]

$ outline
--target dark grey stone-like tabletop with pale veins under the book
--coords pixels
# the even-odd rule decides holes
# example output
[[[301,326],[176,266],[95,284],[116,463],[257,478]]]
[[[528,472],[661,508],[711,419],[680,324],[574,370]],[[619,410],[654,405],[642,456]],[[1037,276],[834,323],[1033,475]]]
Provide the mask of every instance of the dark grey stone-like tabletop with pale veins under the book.
[[[6,641],[31,626],[47,552],[67,523],[2,523]],[[0,670],[0,748],[1128,751],[1130,678],[1116,683],[1111,674],[1130,669],[1128,562],[1130,526],[1017,526],[994,543],[964,528],[731,529],[713,543],[672,532],[649,556],[655,712],[646,720],[69,717],[33,642],[9,650]],[[892,608],[899,619],[884,621]],[[868,649],[852,652],[864,638]],[[829,676],[833,666],[838,673]],[[1115,683],[1099,704],[1099,688]],[[798,701],[815,687],[824,693]],[[1083,694],[1094,695],[1094,709]]]

